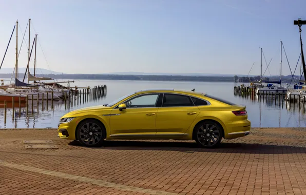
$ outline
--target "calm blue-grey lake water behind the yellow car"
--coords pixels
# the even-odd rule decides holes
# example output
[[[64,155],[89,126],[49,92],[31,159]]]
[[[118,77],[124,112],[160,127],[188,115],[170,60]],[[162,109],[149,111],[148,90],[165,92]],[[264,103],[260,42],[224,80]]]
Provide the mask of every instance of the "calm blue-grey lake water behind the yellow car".
[[[109,80],[80,80],[71,83],[73,86],[86,87],[107,85],[107,94],[99,100],[86,102],[65,109],[63,101],[54,101],[53,109],[51,101],[44,107],[42,102],[39,104],[37,113],[36,101],[34,101],[34,113],[31,114],[31,103],[29,103],[29,114],[26,114],[25,105],[21,105],[19,114],[18,105],[15,105],[15,117],[12,119],[12,109],[7,109],[7,121],[4,123],[4,109],[0,108],[0,128],[57,128],[59,120],[65,113],[88,106],[107,104],[128,93],[148,88],[177,88],[205,92],[219,96],[228,101],[245,105],[248,113],[248,119],[252,127],[306,127],[306,114],[303,104],[299,107],[296,103],[289,106],[285,102],[275,104],[275,101],[260,101],[242,98],[234,95],[234,86],[239,83],[209,83],[209,82],[159,82],[159,81],[109,81]],[[3,104],[3,103],[0,103]],[[21,115],[21,116],[19,116]]]

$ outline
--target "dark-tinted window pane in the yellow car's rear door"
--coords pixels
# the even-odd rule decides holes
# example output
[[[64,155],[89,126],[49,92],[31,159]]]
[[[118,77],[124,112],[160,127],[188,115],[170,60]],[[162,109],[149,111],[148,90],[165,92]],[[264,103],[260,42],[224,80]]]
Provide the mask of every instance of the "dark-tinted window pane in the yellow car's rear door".
[[[187,95],[165,93],[162,107],[174,106],[194,106],[192,100]]]

